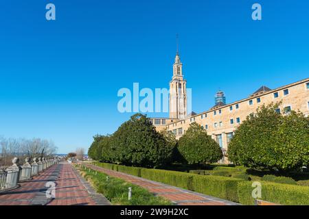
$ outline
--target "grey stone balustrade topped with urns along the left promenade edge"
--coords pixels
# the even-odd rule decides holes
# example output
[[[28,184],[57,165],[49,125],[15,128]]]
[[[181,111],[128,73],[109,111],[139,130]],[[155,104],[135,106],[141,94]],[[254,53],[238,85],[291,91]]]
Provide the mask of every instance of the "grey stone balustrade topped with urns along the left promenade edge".
[[[38,162],[36,162],[38,160]],[[32,176],[46,170],[50,166],[58,164],[58,159],[54,157],[34,157],[32,162],[30,158],[25,158],[25,163],[19,165],[19,158],[12,159],[12,166],[5,170],[0,170],[0,192],[12,190],[18,187],[19,181],[30,180]]]

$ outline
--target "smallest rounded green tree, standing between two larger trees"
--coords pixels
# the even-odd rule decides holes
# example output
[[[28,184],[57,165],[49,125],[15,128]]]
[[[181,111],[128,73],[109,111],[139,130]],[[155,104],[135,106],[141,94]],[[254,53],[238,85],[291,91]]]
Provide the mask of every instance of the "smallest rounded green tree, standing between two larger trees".
[[[219,144],[197,123],[190,124],[189,129],[179,139],[178,148],[188,164],[218,162],[223,156]]]

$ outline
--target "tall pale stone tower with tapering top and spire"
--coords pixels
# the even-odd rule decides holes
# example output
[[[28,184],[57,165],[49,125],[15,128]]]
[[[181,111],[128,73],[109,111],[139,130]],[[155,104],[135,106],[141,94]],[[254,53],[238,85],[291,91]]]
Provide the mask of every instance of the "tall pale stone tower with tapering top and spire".
[[[187,116],[187,81],[183,79],[183,64],[178,49],[173,65],[173,77],[170,81],[170,118],[185,118]]]

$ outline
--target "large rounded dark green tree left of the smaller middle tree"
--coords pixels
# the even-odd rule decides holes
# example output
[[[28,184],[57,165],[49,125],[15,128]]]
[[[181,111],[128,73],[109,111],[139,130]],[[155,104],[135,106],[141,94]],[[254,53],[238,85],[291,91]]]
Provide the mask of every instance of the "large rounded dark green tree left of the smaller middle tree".
[[[152,167],[170,160],[172,146],[143,114],[135,114],[113,134],[115,161],[126,165]]]

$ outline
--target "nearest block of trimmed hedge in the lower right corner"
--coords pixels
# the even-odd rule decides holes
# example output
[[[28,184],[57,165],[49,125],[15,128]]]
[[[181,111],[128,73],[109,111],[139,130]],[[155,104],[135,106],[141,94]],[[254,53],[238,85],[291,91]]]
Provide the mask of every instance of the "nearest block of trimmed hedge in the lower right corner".
[[[238,183],[237,193],[242,205],[254,205],[252,182]],[[281,205],[309,205],[309,192],[306,186],[262,182],[263,201]]]

